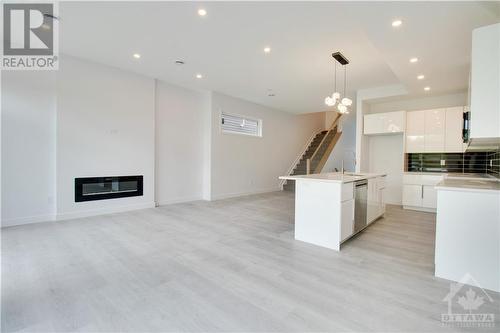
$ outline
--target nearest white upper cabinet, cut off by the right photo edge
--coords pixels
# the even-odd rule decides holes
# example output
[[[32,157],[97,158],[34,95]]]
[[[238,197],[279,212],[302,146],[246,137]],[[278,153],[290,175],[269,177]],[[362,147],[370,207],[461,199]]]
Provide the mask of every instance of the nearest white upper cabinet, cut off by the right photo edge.
[[[472,32],[470,138],[500,137],[500,23]]]

